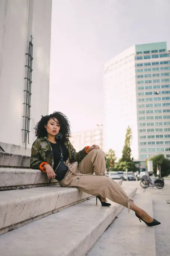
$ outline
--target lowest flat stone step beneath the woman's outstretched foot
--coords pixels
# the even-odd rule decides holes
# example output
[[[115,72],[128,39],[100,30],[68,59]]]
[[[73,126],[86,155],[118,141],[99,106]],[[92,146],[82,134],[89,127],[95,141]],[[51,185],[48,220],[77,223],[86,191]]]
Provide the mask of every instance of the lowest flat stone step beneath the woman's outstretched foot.
[[[135,204],[153,216],[151,194],[138,191],[134,197]],[[154,227],[147,227],[144,222],[139,221],[134,212],[127,214],[127,210],[123,209],[87,254],[103,255],[156,256]]]

